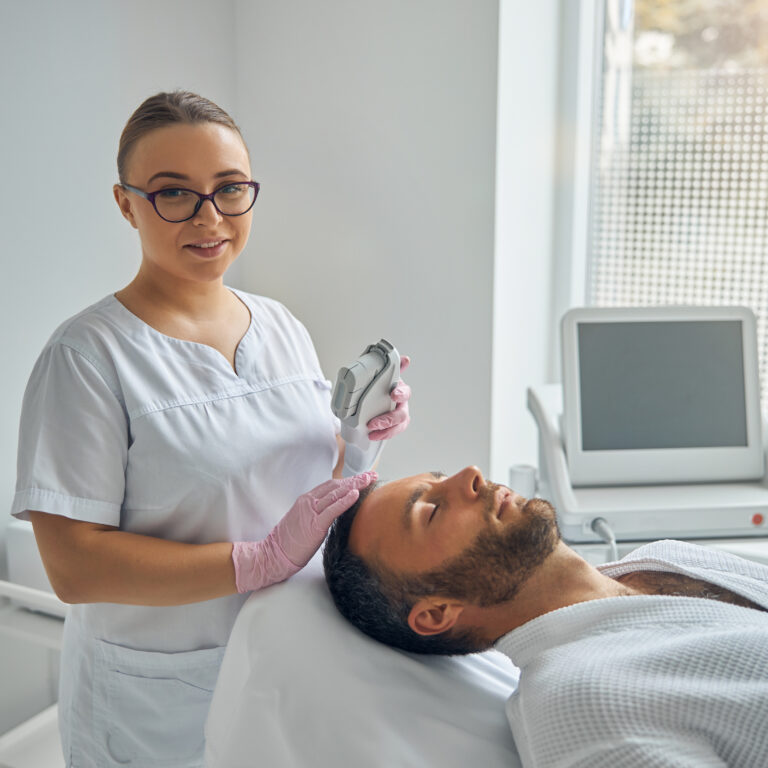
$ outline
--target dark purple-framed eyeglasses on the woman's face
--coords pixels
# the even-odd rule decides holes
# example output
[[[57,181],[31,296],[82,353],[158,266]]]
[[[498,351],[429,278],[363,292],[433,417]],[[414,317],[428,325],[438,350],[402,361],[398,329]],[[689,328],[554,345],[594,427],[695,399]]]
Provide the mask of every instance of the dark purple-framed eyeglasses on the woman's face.
[[[242,216],[253,208],[260,188],[260,184],[256,181],[238,181],[225,184],[210,195],[203,195],[195,192],[194,189],[181,187],[144,192],[130,184],[121,184],[121,186],[149,200],[157,211],[157,215],[173,224],[193,218],[206,200],[210,200],[222,216]]]

